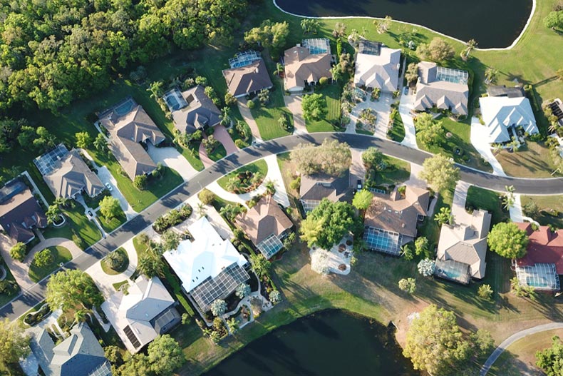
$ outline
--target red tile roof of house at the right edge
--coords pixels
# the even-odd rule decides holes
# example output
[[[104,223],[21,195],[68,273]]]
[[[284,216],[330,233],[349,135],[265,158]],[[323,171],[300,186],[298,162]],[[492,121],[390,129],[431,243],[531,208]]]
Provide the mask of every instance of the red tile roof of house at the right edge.
[[[520,230],[525,230],[530,238],[527,254],[516,260],[519,266],[533,266],[540,264],[555,264],[557,274],[563,274],[563,230],[553,233],[547,226],[540,226],[539,230],[532,230],[530,223],[517,222]]]

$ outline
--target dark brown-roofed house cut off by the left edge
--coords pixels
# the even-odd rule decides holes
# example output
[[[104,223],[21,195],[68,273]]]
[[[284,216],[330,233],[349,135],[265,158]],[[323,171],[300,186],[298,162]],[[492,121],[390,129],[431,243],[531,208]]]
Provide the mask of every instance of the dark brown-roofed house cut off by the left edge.
[[[0,226],[14,243],[25,244],[35,238],[33,227],[47,227],[45,211],[19,178],[0,189]]]

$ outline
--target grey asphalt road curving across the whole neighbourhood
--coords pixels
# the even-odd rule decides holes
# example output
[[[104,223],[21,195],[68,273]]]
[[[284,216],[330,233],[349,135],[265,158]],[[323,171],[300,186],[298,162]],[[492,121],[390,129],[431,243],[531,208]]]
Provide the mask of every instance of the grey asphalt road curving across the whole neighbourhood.
[[[172,189],[170,193],[149,208],[143,210],[143,212],[139,213],[135,218],[108,235],[107,238],[100,240],[98,243],[91,246],[91,248],[86,249],[83,254],[67,263],[65,267],[69,269],[88,269],[110,251],[118,248],[127,240],[137,235],[141,230],[152,224],[159,215],[180,205],[180,203],[197,193],[202,187],[207,186],[207,184],[212,183],[229,171],[233,171],[240,166],[244,166],[247,163],[272,154],[290,151],[299,143],[322,143],[325,138],[334,138],[339,141],[344,141],[352,148],[376,146],[385,154],[417,164],[422,164],[425,158],[431,156],[430,153],[426,153],[425,151],[415,150],[408,146],[394,143],[393,141],[350,133],[309,133],[300,134],[298,136],[286,136],[263,143],[257,143],[223,158],[213,166],[197,173],[190,181],[182,183],[182,185]],[[563,178],[540,180],[507,178],[493,176],[489,173],[476,171],[465,166],[459,167],[462,180],[468,181],[475,186],[498,190],[500,192],[504,192],[505,186],[514,186],[517,193],[525,194],[549,195],[563,193]],[[24,291],[18,298],[12,300],[11,303],[4,305],[4,307],[0,309],[0,317],[9,317],[11,320],[14,320],[43,300],[47,280],[48,278],[42,280],[29,290]]]

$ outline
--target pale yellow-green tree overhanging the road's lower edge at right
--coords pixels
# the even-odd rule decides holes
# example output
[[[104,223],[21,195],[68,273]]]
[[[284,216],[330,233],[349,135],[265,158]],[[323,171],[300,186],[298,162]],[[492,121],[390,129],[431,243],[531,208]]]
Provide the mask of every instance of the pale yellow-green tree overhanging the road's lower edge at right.
[[[435,154],[423,162],[423,171],[420,178],[436,192],[453,189],[460,180],[460,169],[454,166],[453,161],[443,154]]]

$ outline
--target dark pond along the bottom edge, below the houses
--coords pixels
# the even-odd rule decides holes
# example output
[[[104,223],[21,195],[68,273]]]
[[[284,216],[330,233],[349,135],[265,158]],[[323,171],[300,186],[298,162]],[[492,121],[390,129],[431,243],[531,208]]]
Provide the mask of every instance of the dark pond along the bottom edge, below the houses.
[[[227,375],[410,376],[420,373],[403,357],[401,347],[387,327],[342,310],[326,310],[255,340],[205,374]]]

